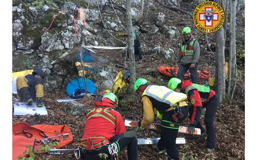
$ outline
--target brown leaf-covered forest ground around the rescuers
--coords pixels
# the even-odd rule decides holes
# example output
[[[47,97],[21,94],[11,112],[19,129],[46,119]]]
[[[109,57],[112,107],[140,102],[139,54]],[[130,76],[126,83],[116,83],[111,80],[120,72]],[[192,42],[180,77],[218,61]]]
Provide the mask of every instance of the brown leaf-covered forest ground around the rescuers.
[[[166,25],[176,26],[178,30],[181,30],[183,26],[193,26],[189,17],[186,15],[172,12],[168,9],[164,9],[156,5],[155,9],[150,9],[148,17],[156,17],[158,12],[166,14]],[[107,12],[107,11],[106,11]],[[113,15],[114,16],[114,15]],[[120,17],[124,20],[124,17]],[[178,66],[177,64],[177,44],[180,39],[170,40],[159,31],[153,32],[154,18],[148,18],[143,23],[144,30],[146,33],[137,33],[138,38],[141,39],[142,44],[146,45],[146,51],[144,52],[143,63],[136,63],[137,78],[142,77],[148,79],[152,84],[165,85],[169,78],[162,76],[156,70],[157,66],[169,65]],[[241,25],[239,25],[241,26]],[[215,71],[215,54],[207,49],[206,35],[200,33],[198,30],[193,28],[193,35],[199,40],[201,45],[201,57],[199,61],[199,70],[208,70],[211,74]],[[209,43],[214,38],[210,36],[208,39]],[[161,46],[161,49],[174,49],[174,54],[169,60],[166,60],[163,55],[154,54],[153,50],[150,50],[154,45]],[[114,63],[124,64],[124,57],[118,58]],[[149,70],[149,68],[151,70]],[[215,116],[215,131],[216,131],[216,142],[217,150],[215,153],[206,153],[206,137],[194,138],[191,135],[180,134],[178,137],[185,137],[186,144],[178,145],[180,151],[180,159],[244,159],[244,66],[238,67],[239,78],[236,91],[234,92],[234,100],[229,102],[225,100],[220,106],[218,106],[217,114]],[[206,81],[200,81],[204,83]],[[47,116],[13,116],[13,123],[15,122],[27,122],[30,125],[34,124],[51,124],[60,125],[66,124],[70,127],[73,133],[73,143],[66,146],[66,148],[76,148],[79,146],[79,140],[82,137],[84,130],[84,116],[73,116],[64,113],[61,110],[65,103],[58,103],[58,98],[66,98],[64,90],[57,90],[54,93],[46,94],[44,103],[46,105],[48,115]],[[86,108],[92,108],[94,97],[86,97],[82,100],[78,100],[79,103],[83,103]],[[119,108],[119,112],[122,114],[124,119],[142,119],[142,105],[140,98],[124,99],[128,107]],[[204,115],[202,114],[201,122],[204,124]],[[156,120],[157,121],[157,120]],[[130,130],[130,128],[127,128]],[[160,137],[159,132],[152,130],[145,130],[142,135],[138,137]],[[54,156],[49,154],[36,154],[36,159],[74,159],[72,153],[68,153],[65,156]],[[120,155],[119,159],[127,159],[127,151],[124,150]],[[138,146],[138,159],[167,159],[165,155],[158,155],[154,153],[151,146]]]

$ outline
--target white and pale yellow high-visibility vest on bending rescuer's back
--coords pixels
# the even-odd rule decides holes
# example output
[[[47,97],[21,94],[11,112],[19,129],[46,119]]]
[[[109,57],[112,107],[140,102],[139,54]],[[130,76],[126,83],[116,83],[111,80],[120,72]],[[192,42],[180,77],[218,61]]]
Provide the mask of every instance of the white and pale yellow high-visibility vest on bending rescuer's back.
[[[144,90],[143,95],[148,95],[159,102],[164,102],[170,106],[176,105],[178,102],[186,100],[186,94],[174,92],[164,86],[149,85]]]

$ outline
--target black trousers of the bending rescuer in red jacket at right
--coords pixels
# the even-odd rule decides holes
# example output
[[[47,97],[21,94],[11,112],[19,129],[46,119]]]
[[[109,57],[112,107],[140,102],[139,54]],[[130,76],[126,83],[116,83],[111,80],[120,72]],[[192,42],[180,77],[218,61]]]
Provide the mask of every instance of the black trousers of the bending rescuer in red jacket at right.
[[[216,148],[215,144],[215,129],[214,129],[214,116],[218,108],[217,97],[210,98],[209,102],[203,105],[203,108],[206,108],[206,114],[204,116],[204,124],[206,124],[206,133],[207,133],[207,143],[206,147],[210,149]],[[193,113],[193,107],[189,108],[190,115]],[[197,128],[201,129],[201,133],[205,132],[205,129],[202,127],[200,121],[196,125]]]

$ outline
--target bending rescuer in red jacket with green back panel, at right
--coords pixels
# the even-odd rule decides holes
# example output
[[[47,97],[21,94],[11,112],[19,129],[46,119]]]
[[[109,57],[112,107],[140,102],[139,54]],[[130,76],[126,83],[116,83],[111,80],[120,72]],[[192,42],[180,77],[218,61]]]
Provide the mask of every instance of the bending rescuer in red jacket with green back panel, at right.
[[[209,86],[194,84],[189,80],[180,80],[178,78],[171,78],[168,82],[168,88],[177,92],[183,92],[188,95],[191,106],[190,112],[190,132],[194,131],[194,127],[201,129],[201,135],[207,134],[206,150],[211,152],[216,148],[215,145],[215,129],[214,116],[218,107],[218,100],[215,91]],[[204,116],[204,123],[206,124],[206,131],[202,127],[199,119],[201,117],[202,108],[206,108]],[[206,134],[204,134],[206,132]]]

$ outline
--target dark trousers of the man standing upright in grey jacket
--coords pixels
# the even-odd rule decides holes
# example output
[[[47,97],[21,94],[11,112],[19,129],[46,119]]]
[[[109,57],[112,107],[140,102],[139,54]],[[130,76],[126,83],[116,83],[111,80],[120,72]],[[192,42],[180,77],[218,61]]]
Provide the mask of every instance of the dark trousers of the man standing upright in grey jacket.
[[[182,65],[180,64],[180,67],[178,68],[177,78],[183,80],[184,74],[186,71],[190,70],[190,79],[193,83],[198,83],[198,65],[194,66],[194,68],[190,68],[190,64],[188,65]]]

